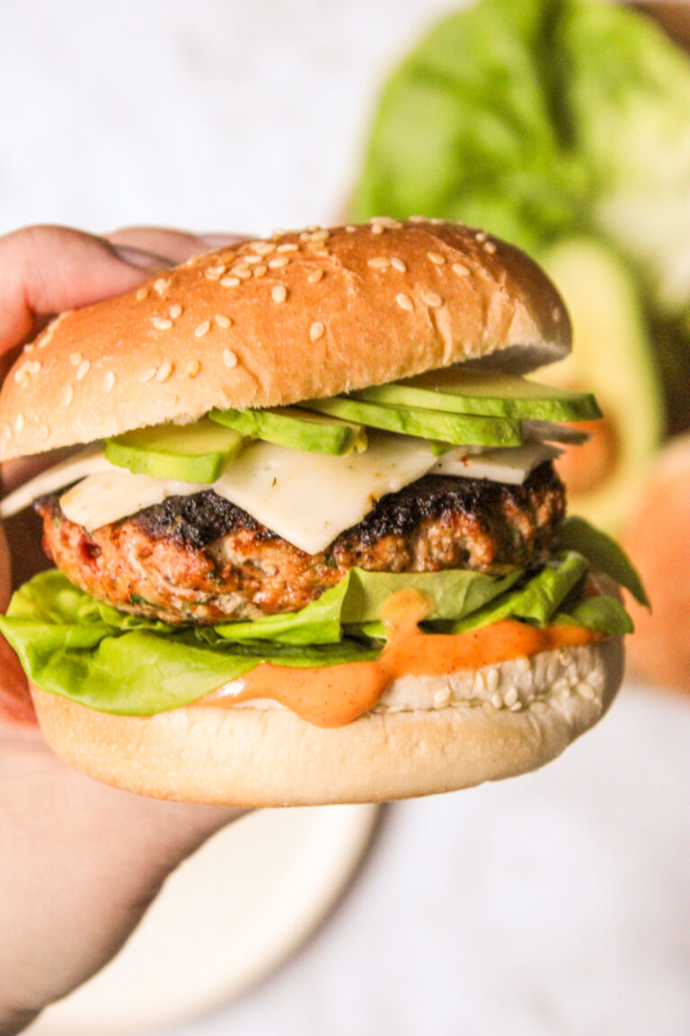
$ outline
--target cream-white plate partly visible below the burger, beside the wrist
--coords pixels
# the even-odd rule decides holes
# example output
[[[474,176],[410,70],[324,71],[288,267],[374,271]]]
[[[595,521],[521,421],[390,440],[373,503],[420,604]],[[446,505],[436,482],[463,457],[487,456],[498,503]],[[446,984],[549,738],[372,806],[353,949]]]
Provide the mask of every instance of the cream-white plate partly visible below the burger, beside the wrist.
[[[293,952],[362,858],[376,806],[264,810],[176,871],[122,952],[32,1036],[125,1036],[237,996]]]

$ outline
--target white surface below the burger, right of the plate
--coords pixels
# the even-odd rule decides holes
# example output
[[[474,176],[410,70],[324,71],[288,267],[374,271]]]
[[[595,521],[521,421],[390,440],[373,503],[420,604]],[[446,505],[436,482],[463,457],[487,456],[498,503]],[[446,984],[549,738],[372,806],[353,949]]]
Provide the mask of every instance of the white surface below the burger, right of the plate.
[[[538,773],[389,807],[316,939],[164,1036],[687,1036],[689,745],[627,688]]]

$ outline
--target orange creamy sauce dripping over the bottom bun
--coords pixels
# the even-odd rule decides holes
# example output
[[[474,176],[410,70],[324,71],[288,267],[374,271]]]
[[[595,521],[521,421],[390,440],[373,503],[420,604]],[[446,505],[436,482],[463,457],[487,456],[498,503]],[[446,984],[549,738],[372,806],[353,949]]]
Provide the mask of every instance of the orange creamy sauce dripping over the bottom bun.
[[[261,662],[240,681],[196,704],[228,708],[238,701],[271,698],[314,726],[344,726],[369,712],[391,681],[400,677],[440,677],[457,669],[479,669],[556,648],[593,643],[602,636],[582,626],[536,629],[513,618],[466,633],[423,633],[418,624],[431,608],[418,591],[399,591],[382,608],[389,639],[374,661],[316,669]],[[231,689],[235,686],[237,691]]]

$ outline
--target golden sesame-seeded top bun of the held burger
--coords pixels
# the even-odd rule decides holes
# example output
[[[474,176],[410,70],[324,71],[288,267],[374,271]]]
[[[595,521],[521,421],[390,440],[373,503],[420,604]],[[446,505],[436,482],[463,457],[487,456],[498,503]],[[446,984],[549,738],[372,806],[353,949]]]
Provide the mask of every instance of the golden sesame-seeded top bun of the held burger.
[[[2,385],[0,461],[505,350],[527,369],[569,348],[551,283],[483,232],[379,219],[277,233],[54,320]]]

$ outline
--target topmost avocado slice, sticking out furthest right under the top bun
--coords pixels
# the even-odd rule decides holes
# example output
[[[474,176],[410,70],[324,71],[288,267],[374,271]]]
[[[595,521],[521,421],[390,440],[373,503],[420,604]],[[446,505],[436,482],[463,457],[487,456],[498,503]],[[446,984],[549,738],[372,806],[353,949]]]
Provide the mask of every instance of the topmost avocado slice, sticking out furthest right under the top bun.
[[[592,421],[601,416],[589,392],[560,388],[500,371],[469,371],[448,367],[415,378],[353,393],[356,399],[400,406],[424,406],[451,413],[533,421]]]

